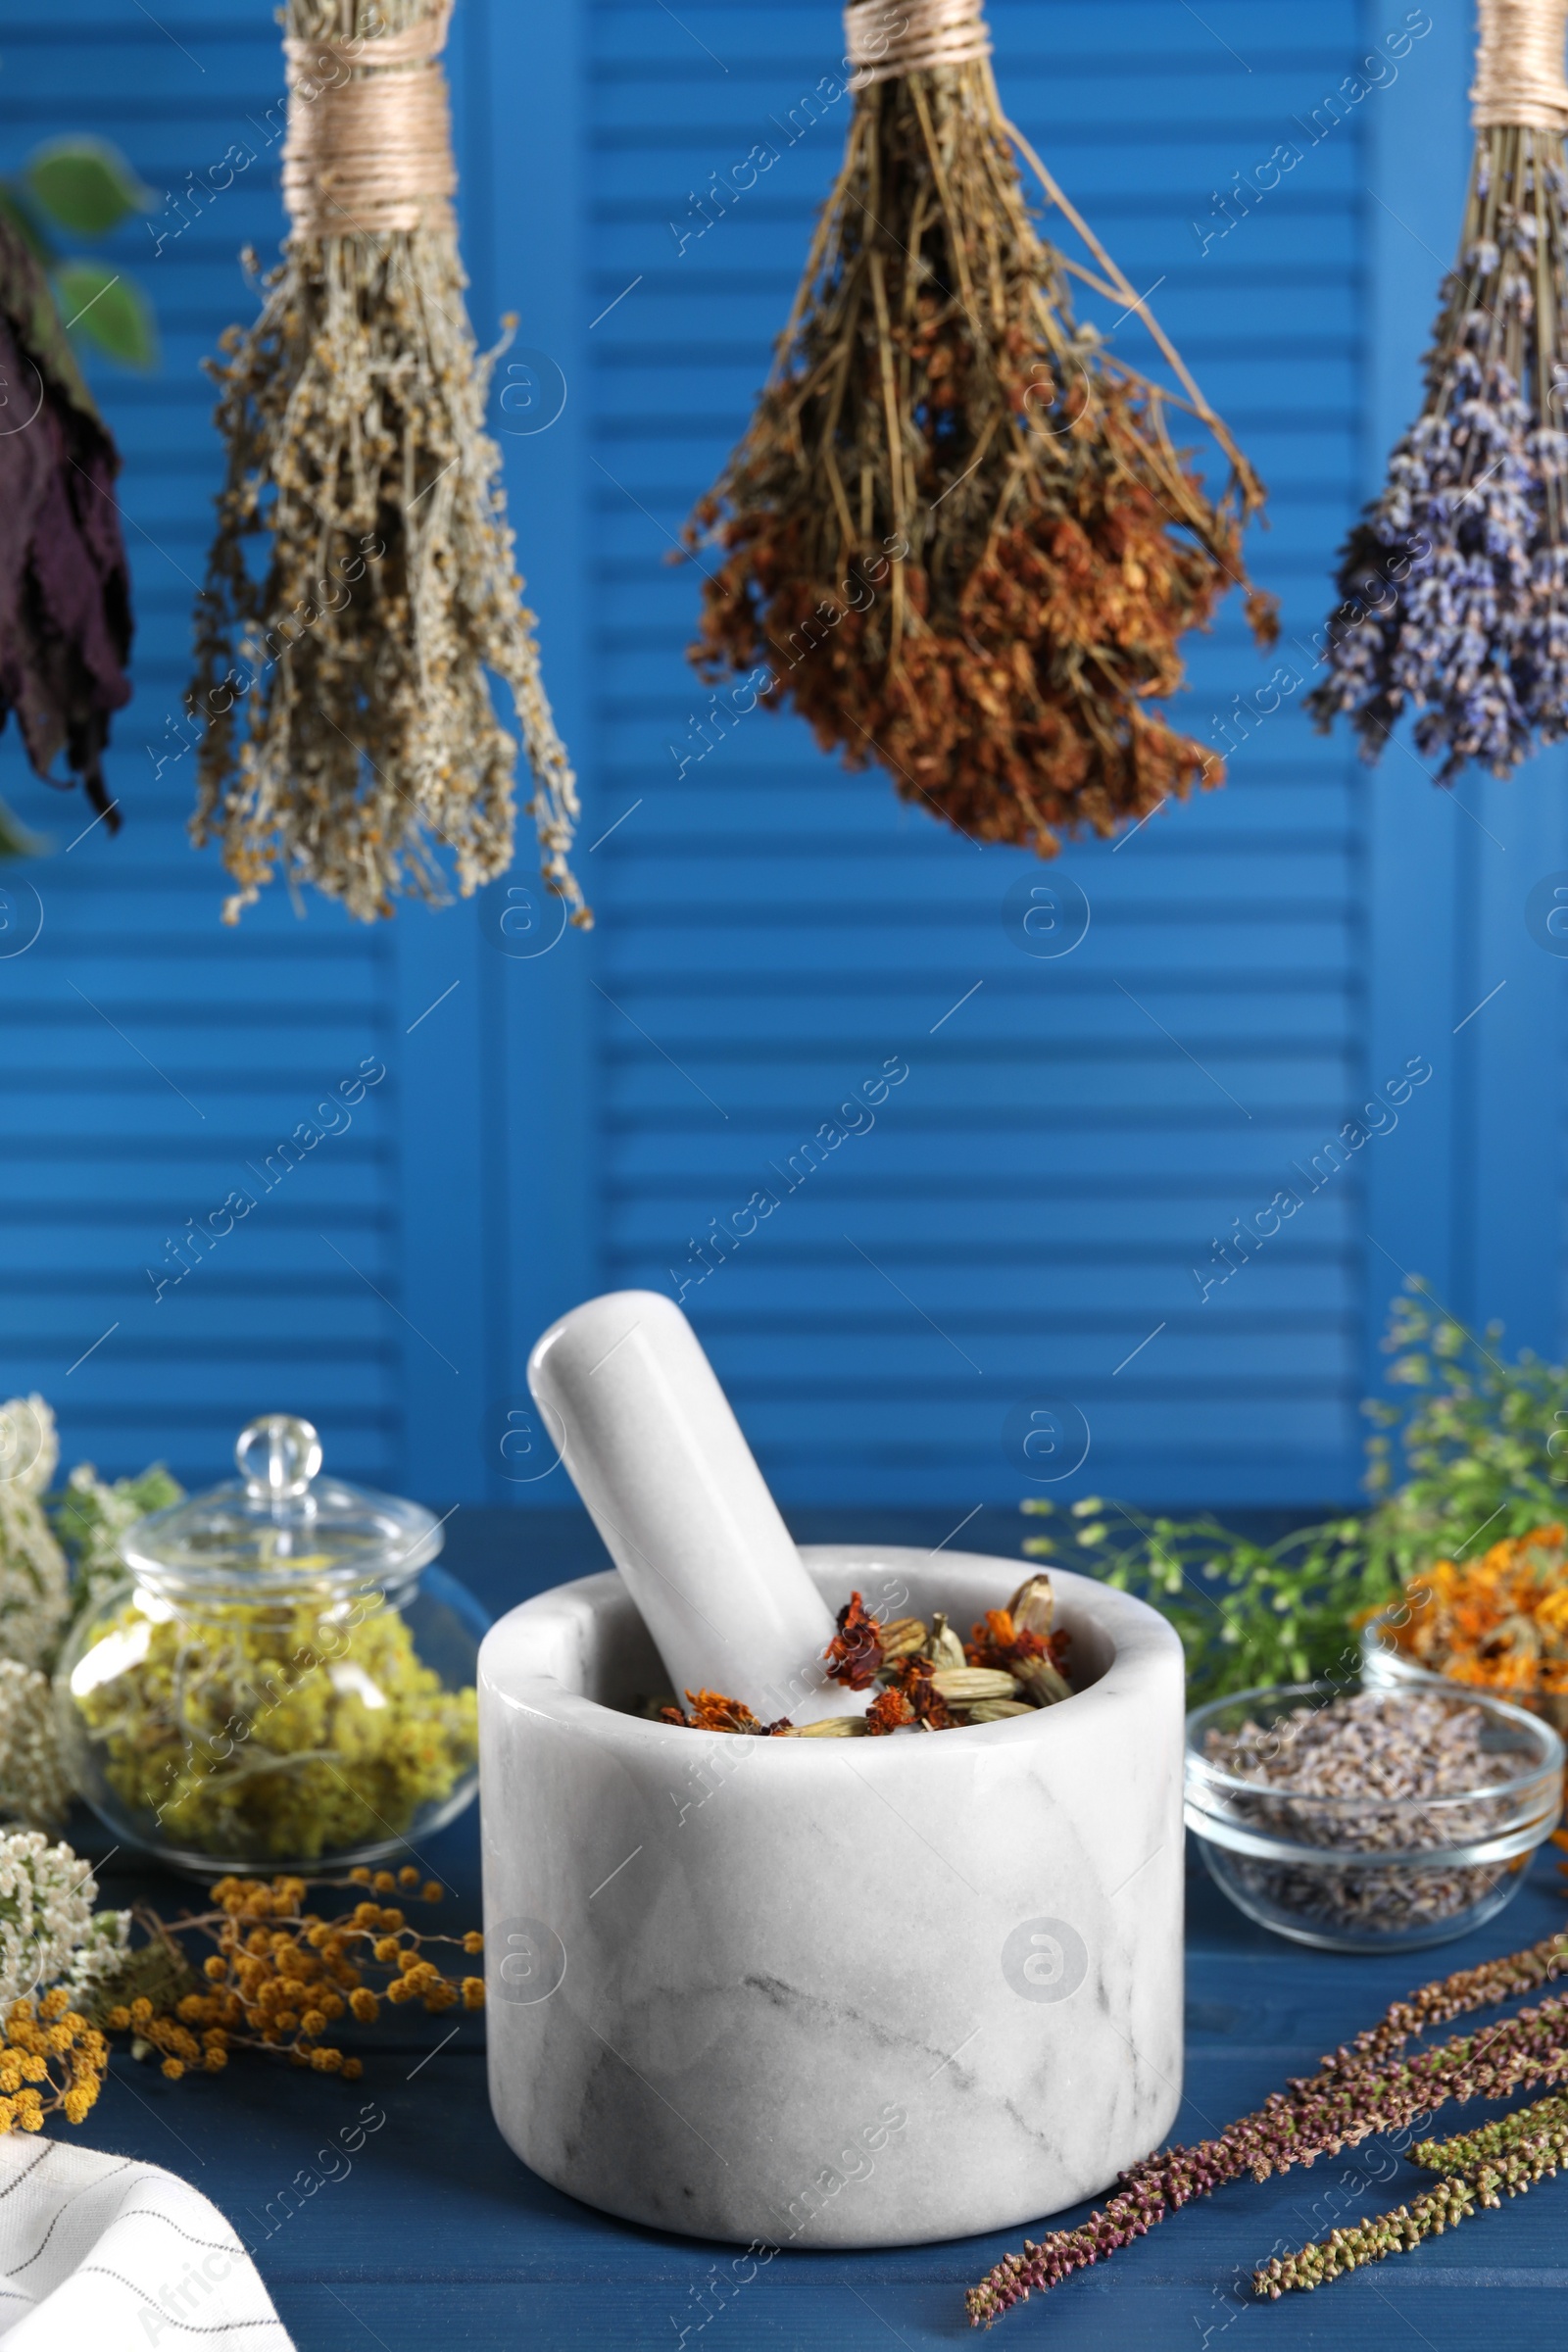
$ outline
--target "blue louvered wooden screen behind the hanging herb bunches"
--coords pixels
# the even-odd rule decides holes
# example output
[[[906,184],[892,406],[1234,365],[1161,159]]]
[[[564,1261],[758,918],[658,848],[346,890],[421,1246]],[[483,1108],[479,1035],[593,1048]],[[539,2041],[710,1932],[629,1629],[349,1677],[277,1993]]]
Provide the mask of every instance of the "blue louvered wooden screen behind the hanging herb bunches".
[[[139,593],[122,837],[66,849],[85,814],[0,746],[0,788],[59,842],[12,877],[45,929],[0,962],[0,1362],[59,1402],[73,1456],[207,1475],[244,1414],[289,1404],[348,1470],[559,1501],[527,1451],[527,1343],[590,1287],[649,1284],[684,1289],[795,1501],[1006,1505],[1030,1428],[1037,1463],[1088,1432],[1058,1494],[1316,1501],[1354,1489],[1401,1270],[1556,1345],[1561,971],[1523,898],[1568,866],[1559,767],[1455,800],[1401,753],[1368,783],[1298,708],[1453,240],[1467,16],[990,14],[1013,113],[1272,487],[1253,564],[1279,654],[1225,609],[1182,710],[1239,746],[1229,788],[1046,870],[846,776],[790,717],[712,717],[670,555],[837,165],[837,12],[461,0],[473,306],[482,334],[522,315],[491,423],[599,913],[592,941],[515,957],[505,887],[381,931],[287,901],[216,924],[181,835],[216,470],[197,360],[247,310],[237,247],[277,235],[275,28],[254,0],[12,0],[0,167],[99,129],[179,200],[160,221],[188,219],[158,254],[146,223],[115,240],[162,369],[96,372]],[[256,169],[202,198],[235,139]],[[1135,320],[1117,346],[1147,358]],[[1295,684],[1269,689],[1279,663]],[[1009,891],[1063,877],[1088,934],[1025,953],[1039,915],[1025,941]],[[386,1077],[353,1124],[155,1298],[183,1221],[362,1063]],[[1429,1077],[1382,1131],[1321,1157],[1408,1065]],[[1302,1207],[1260,1242],[1281,1190]]]

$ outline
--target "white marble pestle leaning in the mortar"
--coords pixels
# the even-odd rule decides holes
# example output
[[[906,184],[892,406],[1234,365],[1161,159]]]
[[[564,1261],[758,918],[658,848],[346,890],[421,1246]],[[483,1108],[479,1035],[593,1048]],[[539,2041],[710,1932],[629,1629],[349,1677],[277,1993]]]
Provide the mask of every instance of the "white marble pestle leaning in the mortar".
[[[764,1724],[865,1710],[825,1677],[832,1611],[672,1298],[588,1298],[536,1341],[529,1388],[677,1693]]]

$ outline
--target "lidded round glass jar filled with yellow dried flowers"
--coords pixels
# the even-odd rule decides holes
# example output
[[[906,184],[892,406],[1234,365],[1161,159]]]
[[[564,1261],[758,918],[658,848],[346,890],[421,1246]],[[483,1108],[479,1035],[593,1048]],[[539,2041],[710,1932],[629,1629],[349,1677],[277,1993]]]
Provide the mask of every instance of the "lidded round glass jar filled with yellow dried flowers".
[[[252,1421],[235,1461],[122,1536],[54,1675],[66,1769],[181,1870],[378,1860],[475,1795],[484,1611],[423,1505],[320,1475],[308,1421]]]

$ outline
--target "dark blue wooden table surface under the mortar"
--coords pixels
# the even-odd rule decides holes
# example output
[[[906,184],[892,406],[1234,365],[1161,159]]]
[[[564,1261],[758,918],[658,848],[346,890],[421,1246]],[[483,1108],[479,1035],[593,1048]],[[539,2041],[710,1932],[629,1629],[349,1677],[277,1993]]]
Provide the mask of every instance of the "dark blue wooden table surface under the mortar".
[[[922,1519],[832,1529],[804,1541],[936,1541]],[[978,1550],[1011,1550],[1016,1522],[987,1515]],[[468,1526],[463,1522],[470,1522]],[[980,1536],[976,1526],[966,1541]],[[458,1512],[449,1564],[489,1609],[602,1564],[585,1522]],[[444,1924],[480,1919],[470,1811],[421,1860],[449,1884]],[[106,1900],[188,1898],[181,1882],[103,1875]],[[1255,2107],[1288,2074],[1371,2023],[1429,1976],[1512,1952],[1568,1924],[1563,1882],[1540,1863],[1519,1900],[1479,1936],[1408,1959],[1307,1952],[1241,1919],[1194,1865],[1187,1910],[1187,2098],[1178,2136],[1201,2138]],[[195,2183],[252,2246],[301,2352],[444,2352],[449,2345],[567,2352],[891,2352],[954,2347],[964,2288],[1023,2232],[903,2253],[778,2253],[736,2284],[731,2246],[609,2220],[536,2180],[501,2140],[484,2091],[484,2020],[418,2018],[362,2037],[364,2077],[343,2084],[259,2058],[221,2079],[165,2082],[118,2056],[82,2138]],[[364,2122],[364,2143],[355,2124]],[[1446,2110],[1479,2119],[1488,2110]],[[386,2122],[376,2122],[386,2117]],[[61,2131],[66,2126],[59,2126]],[[1458,2129],[1458,2124],[1455,2124]],[[1051,2352],[1537,2352],[1561,2343],[1568,2291],[1568,2180],[1429,2239],[1314,2296],[1258,2305],[1260,2258],[1420,2190],[1425,2176],[1373,2150],[1319,2159],[1262,2187],[1234,2183],[1175,2213],[1110,2265],[1001,2321],[994,2343]],[[1084,2209],[1086,2211],[1086,2209]],[[1079,2213],[1063,2220],[1077,2220]],[[1037,2232],[1032,2232],[1037,2234]]]

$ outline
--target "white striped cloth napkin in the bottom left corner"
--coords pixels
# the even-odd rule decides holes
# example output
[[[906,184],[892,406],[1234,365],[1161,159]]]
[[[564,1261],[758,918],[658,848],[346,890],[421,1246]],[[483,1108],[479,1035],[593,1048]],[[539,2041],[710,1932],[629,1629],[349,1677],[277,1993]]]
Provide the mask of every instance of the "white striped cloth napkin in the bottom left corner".
[[[7,2352],[292,2352],[249,2253],[174,2173],[96,2147],[0,2138]]]

